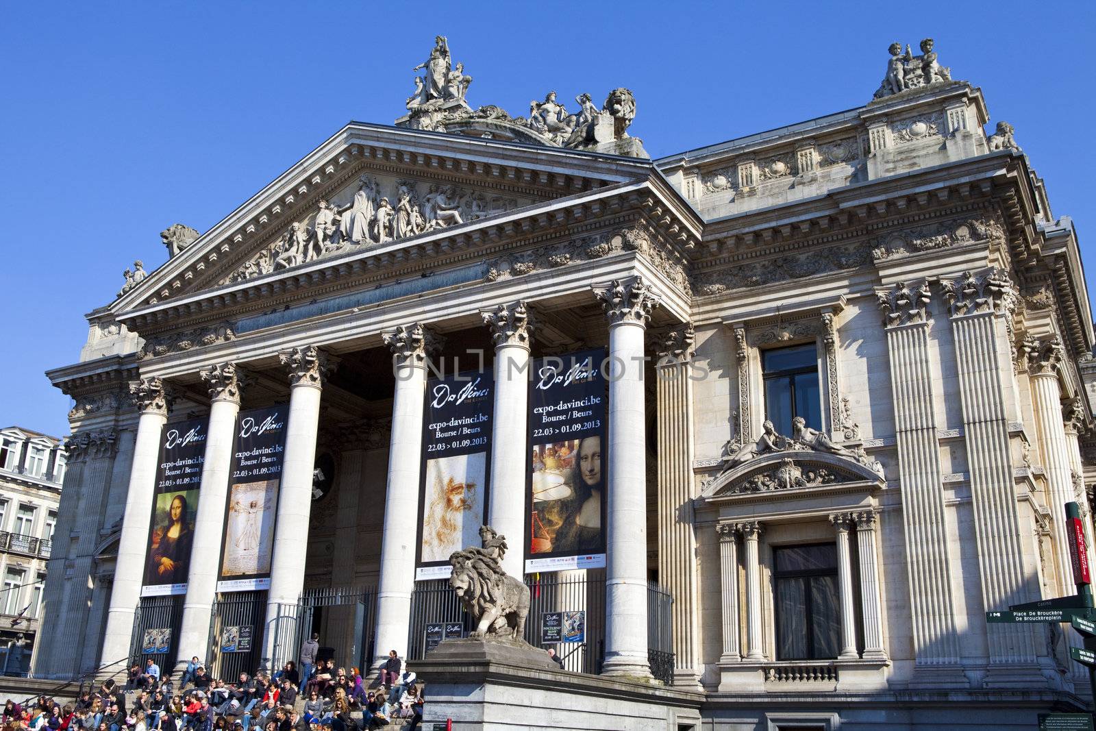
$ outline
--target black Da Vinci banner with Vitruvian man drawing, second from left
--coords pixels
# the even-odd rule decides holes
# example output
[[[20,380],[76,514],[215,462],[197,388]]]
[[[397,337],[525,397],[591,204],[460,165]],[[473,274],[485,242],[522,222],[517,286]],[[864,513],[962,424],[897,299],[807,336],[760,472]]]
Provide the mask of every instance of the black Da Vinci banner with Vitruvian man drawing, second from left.
[[[287,412],[253,409],[237,420],[218,592],[270,589]]]

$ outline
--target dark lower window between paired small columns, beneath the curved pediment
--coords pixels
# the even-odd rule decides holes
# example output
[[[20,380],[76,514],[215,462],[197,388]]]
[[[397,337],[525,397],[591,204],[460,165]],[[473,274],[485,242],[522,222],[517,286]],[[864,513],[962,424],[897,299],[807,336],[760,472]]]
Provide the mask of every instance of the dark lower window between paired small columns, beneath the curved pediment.
[[[841,601],[834,544],[773,549],[776,659],[837,656]]]

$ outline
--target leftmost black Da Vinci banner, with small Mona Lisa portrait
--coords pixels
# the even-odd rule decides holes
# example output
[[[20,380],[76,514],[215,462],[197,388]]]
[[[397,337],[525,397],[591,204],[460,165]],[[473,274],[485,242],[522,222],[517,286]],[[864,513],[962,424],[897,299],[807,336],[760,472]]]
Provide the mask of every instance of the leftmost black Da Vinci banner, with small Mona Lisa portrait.
[[[161,434],[141,596],[186,593],[205,461],[205,420],[167,424]]]

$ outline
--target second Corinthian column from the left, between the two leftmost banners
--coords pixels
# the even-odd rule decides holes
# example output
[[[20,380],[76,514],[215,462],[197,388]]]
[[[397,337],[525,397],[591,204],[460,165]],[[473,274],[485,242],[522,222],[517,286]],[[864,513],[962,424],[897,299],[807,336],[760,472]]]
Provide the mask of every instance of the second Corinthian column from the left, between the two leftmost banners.
[[[209,426],[206,436],[205,461],[202,464],[202,491],[194,516],[194,549],[187,574],[186,598],[179,630],[176,672],[181,672],[192,655],[205,658],[209,650],[209,617],[217,592],[219,546],[225,529],[225,503],[232,462],[236,416],[240,413],[241,374],[231,363],[222,363],[201,372],[209,388]]]

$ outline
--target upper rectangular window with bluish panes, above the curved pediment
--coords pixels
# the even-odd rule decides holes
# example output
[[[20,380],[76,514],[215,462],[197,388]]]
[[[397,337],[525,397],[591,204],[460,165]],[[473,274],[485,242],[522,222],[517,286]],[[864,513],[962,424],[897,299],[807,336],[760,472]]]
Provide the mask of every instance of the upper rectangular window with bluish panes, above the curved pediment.
[[[807,425],[822,429],[818,349],[813,343],[762,351],[765,381],[765,418],[779,434],[791,434],[791,420],[802,416]]]

